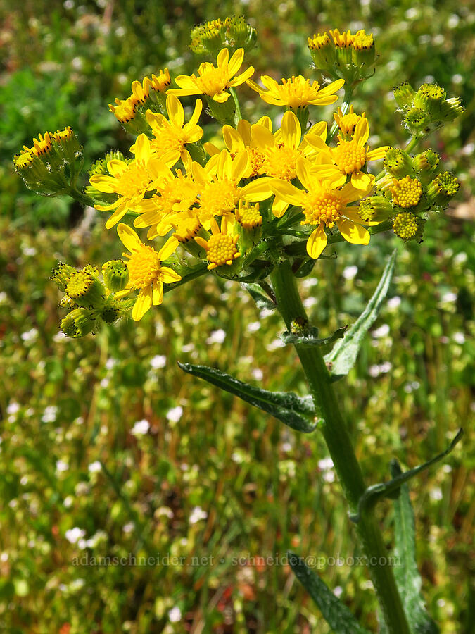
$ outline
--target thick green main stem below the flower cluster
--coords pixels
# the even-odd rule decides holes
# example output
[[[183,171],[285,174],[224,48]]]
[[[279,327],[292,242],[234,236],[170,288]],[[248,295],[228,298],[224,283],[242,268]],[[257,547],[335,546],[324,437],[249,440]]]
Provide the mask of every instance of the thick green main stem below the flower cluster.
[[[307,319],[307,315],[289,261],[277,264],[270,278],[277,298],[277,306],[287,329],[290,331],[291,323],[296,318]],[[366,485],[346,423],[343,421],[338,406],[329,371],[318,347],[305,347],[296,344],[296,352],[307,376],[315,409],[322,418],[319,429],[327,443],[343,492],[350,505],[350,511],[353,513],[357,509],[360,497],[365,492]],[[369,573],[384,614],[388,632],[390,634],[410,634],[393,571],[391,566],[387,565],[388,552],[374,514],[371,512],[362,516],[356,528],[367,557]],[[384,565],[385,563],[386,565]]]

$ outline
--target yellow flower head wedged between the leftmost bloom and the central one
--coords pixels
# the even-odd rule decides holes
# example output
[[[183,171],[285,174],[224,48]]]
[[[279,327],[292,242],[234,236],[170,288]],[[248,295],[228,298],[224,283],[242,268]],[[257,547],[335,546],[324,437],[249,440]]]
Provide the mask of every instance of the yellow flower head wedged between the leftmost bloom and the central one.
[[[135,227],[149,227],[148,240],[167,235],[174,225],[189,218],[189,209],[198,202],[198,185],[182,170],[177,170],[176,174],[170,169],[163,170],[155,182],[155,189],[156,194],[137,206],[140,216],[134,220]]]

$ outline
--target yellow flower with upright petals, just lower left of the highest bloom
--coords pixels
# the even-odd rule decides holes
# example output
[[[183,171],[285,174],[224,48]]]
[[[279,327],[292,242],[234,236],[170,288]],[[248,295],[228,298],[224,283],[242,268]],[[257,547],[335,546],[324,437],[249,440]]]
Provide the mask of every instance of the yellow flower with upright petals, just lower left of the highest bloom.
[[[203,130],[197,125],[203,109],[203,101],[196,99],[195,109],[188,123],[184,123],[183,106],[174,94],[167,96],[166,108],[168,118],[151,110],[146,111],[145,118],[155,137],[151,141],[151,151],[160,158],[167,151],[177,150],[182,161],[189,161],[189,152],[185,149],[186,143],[199,141],[203,136]]]

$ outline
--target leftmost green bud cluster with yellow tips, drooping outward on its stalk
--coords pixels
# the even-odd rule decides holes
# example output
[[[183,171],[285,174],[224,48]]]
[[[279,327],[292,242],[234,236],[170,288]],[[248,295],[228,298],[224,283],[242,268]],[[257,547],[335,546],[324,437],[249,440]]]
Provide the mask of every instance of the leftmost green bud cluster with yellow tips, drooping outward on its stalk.
[[[28,189],[44,196],[69,193],[82,169],[82,147],[70,126],[45,132],[13,157],[15,171]]]

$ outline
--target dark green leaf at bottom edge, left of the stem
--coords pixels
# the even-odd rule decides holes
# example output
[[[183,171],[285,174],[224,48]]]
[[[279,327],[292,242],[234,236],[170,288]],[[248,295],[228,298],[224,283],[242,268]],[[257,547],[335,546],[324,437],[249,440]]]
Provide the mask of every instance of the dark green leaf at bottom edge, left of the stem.
[[[360,626],[346,605],[331,592],[327,584],[305,564],[302,557],[289,552],[289,564],[336,634],[369,634],[368,630]]]

